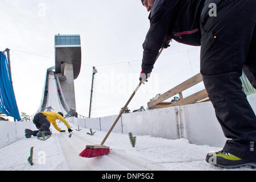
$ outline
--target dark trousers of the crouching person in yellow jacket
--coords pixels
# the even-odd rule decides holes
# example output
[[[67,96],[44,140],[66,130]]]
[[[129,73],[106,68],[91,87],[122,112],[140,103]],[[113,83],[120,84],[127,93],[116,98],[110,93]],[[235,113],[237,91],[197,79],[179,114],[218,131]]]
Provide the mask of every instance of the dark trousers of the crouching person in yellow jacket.
[[[35,115],[34,119],[33,119],[33,123],[35,124],[37,129],[39,129],[40,132],[41,131],[49,131],[49,132],[51,132],[51,130],[49,130],[49,127],[51,126],[51,123],[46,118],[46,115],[44,115],[42,113],[37,113]],[[39,131],[34,131],[35,135]]]

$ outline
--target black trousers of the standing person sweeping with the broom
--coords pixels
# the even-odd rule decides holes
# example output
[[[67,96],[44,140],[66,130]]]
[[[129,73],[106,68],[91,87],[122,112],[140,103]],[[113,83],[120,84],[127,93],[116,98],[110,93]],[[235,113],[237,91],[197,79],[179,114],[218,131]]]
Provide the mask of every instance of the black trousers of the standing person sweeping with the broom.
[[[217,16],[209,16],[209,3]],[[242,91],[242,71],[256,88],[256,1],[208,0],[201,14],[200,72],[218,122],[223,150],[256,162],[256,117]]]

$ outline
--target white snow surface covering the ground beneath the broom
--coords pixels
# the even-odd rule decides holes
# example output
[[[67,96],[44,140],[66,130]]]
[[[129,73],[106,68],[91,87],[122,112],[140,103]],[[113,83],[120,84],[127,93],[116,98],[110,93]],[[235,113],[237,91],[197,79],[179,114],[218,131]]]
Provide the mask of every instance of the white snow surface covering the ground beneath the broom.
[[[67,130],[62,122],[60,128]],[[112,133],[105,145],[112,150],[109,155],[97,158],[81,158],[80,152],[86,144],[100,144],[106,132],[96,131],[91,136],[89,129],[77,131],[77,126],[70,123],[73,133],[59,133],[52,126],[52,136],[46,141],[36,137],[22,138],[0,148],[1,171],[209,171],[232,170],[250,171],[250,167],[225,169],[205,162],[209,151],[221,148],[190,144],[186,139],[163,139],[149,136],[136,136],[133,148],[127,134]],[[81,129],[81,128],[80,128]],[[27,162],[30,148],[34,147],[33,162]]]

